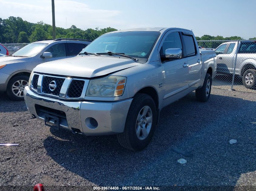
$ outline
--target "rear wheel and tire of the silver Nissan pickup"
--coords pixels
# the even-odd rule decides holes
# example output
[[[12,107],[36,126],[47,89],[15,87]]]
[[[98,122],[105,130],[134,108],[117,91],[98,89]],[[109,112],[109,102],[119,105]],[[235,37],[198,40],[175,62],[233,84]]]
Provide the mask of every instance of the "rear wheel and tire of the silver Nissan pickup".
[[[196,99],[198,101],[202,101],[202,102],[208,101],[211,95],[211,83],[212,83],[211,75],[206,74],[204,78],[203,86],[195,91]]]

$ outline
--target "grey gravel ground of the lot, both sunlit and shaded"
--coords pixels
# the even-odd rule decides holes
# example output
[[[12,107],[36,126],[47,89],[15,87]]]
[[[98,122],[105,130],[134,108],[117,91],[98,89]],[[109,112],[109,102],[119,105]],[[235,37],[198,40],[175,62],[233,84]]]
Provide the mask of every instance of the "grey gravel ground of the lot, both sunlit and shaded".
[[[256,189],[256,94],[213,88],[201,103],[192,92],[161,111],[151,143],[140,152],[122,148],[115,135],[56,131],[30,119],[24,101],[0,97],[0,143],[19,144],[0,147],[0,190],[32,190],[36,183],[45,191],[95,185]]]

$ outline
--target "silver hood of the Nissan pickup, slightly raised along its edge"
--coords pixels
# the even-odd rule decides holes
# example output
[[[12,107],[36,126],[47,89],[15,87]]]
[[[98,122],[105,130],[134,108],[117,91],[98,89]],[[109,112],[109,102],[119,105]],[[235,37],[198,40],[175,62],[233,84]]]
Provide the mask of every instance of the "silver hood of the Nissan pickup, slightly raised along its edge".
[[[93,78],[140,64],[116,56],[75,56],[39,64],[34,68],[34,72]]]

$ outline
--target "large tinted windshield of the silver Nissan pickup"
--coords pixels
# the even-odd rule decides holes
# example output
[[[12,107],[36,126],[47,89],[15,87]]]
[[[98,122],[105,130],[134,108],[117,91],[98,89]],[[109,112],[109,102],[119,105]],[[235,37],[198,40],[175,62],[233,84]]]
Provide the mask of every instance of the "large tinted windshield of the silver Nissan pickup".
[[[159,32],[133,31],[104,34],[81,51],[88,53],[122,53],[135,58],[148,58]]]

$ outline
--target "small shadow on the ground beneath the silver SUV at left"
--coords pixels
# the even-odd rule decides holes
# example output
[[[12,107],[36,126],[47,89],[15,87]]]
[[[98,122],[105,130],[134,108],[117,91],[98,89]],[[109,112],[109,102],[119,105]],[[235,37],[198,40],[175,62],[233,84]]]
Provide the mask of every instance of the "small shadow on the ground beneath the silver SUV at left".
[[[0,92],[0,112],[28,111],[25,101],[12,101],[5,92]]]

